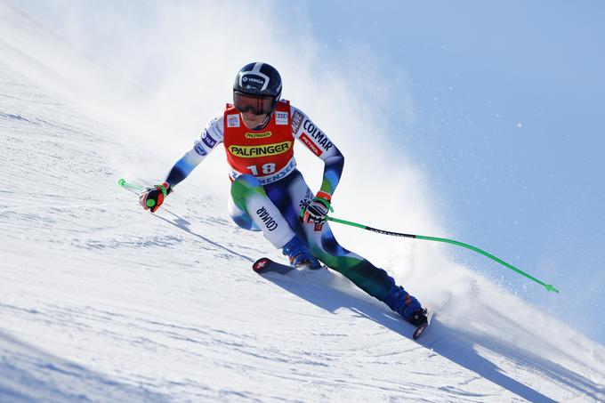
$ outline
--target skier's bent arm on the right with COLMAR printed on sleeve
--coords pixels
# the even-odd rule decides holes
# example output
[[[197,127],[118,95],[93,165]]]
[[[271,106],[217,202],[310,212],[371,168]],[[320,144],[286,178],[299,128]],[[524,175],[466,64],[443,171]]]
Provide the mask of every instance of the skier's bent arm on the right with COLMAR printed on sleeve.
[[[300,109],[291,107],[292,133],[307,149],[324,161],[324,176],[318,196],[329,201],[343,174],[344,157],[326,133],[322,132]]]

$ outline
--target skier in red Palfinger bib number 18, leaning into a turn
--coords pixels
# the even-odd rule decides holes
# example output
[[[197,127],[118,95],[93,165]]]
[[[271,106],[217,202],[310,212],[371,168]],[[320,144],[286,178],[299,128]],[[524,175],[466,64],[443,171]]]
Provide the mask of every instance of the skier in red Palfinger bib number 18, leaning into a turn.
[[[280,99],[281,90],[278,70],[269,64],[254,62],[240,69],[233,103],[210,119],[162,184],[141,193],[141,206],[155,213],[174,186],[223,143],[230,165],[229,213],[234,222],[246,230],[262,230],[292,265],[319,269],[323,262],[411,324],[422,324],[426,310],[415,297],[386,271],[336,242],[326,216],[333,211],[332,195],[343,173],[344,157],[303,111]],[[296,169],[294,139],[325,163],[317,194]]]

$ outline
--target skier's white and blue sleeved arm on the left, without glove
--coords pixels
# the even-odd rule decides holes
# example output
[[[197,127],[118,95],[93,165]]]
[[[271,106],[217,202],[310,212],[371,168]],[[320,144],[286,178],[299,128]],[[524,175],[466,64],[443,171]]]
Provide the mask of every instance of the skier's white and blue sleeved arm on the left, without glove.
[[[193,146],[173,165],[165,182],[171,188],[183,181],[222,142],[222,114],[213,117]]]

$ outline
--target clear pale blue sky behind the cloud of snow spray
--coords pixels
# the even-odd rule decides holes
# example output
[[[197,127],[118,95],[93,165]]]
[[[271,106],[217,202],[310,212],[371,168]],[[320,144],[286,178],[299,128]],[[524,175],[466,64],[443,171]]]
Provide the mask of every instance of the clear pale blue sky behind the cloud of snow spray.
[[[114,68],[129,60],[124,59],[127,52],[117,52],[119,57],[112,53],[120,43],[111,32],[102,31],[107,16],[121,16],[122,25],[109,27],[129,28],[131,40],[144,42],[137,35],[151,32],[160,8],[153,2],[14,4],[59,35],[85,28],[85,36],[76,36],[77,46]],[[198,2],[173,4],[185,10],[195,4],[203,11],[205,3],[201,7]],[[216,3],[207,4],[207,12],[222,13]],[[234,17],[249,24],[251,36],[233,45],[245,51],[246,41],[254,40],[255,21],[246,20],[251,5],[239,4]],[[282,19],[282,24],[276,23],[275,36],[286,38],[285,43],[288,36],[309,36],[319,44],[319,54],[313,56],[321,60],[319,74],[326,67],[342,65],[351,77],[359,62],[363,69],[351,86],[362,87],[365,81],[378,84],[375,93],[366,87],[359,92],[369,94],[368,102],[380,103],[393,148],[405,151],[426,175],[432,203],[448,231],[423,235],[449,236],[479,246],[553,283],[560,295],[526,288],[524,280],[486,258],[451,249],[457,262],[467,263],[561,320],[577,323],[581,331],[605,343],[601,325],[605,323],[601,178],[605,173],[601,157],[605,5],[598,1],[379,4],[262,2],[254,7]],[[68,15],[64,7],[77,12]],[[226,12],[233,12],[233,4]],[[74,19],[77,27],[68,29]],[[154,64],[154,56],[137,56],[147,75],[142,77],[139,71],[142,81],[171,68],[170,63]],[[372,71],[367,71],[368,65]],[[365,80],[364,75],[371,79]],[[287,85],[292,84],[286,83],[285,92]],[[323,88],[315,90],[324,96]],[[348,164],[355,162],[350,159]]]

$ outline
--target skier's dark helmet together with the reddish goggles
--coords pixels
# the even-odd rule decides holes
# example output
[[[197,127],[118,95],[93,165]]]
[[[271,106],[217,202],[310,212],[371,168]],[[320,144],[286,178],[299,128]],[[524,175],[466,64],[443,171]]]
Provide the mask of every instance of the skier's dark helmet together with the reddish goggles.
[[[281,97],[281,77],[267,63],[246,64],[238,71],[233,83],[233,105],[240,112],[270,114]],[[269,106],[267,106],[269,100]]]

